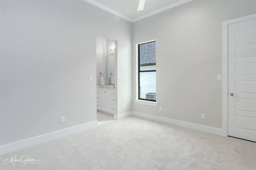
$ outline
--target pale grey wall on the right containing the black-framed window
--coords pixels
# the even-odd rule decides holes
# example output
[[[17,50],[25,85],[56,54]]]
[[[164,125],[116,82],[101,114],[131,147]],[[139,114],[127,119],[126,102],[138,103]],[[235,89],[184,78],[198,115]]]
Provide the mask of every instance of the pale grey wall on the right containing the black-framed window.
[[[135,44],[156,39],[158,106],[133,104],[133,111],[221,129],[222,21],[253,13],[256,1],[194,0],[134,22],[133,81]]]

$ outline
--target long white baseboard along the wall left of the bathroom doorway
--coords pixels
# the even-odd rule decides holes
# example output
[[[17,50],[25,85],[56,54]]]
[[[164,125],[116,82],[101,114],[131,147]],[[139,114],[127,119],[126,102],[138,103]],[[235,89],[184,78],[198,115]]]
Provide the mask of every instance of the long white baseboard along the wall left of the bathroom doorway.
[[[32,137],[32,138],[25,139],[25,140],[22,140],[22,141],[18,141],[18,142],[10,143],[10,144],[7,144],[7,145],[3,145],[3,146],[0,146],[0,154],[2,155],[2,154],[5,154],[5,153],[8,153],[8,152],[12,152],[14,150],[22,149],[22,148],[25,148],[25,147],[30,147],[32,145],[36,145],[36,144],[39,144],[39,143],[42,143],[42,142],[50,141],[52,139],[56,139],[56,138],[59,138],[59,137],[70,135],[72,133],[80,132],[80,131],[90,129],[90,128],[96,127],[96,126],[98,126],[98,121],[93,121],[93,122],[86,123],[86,124],[83,124],[83,125],[70,127],[68,129],[63,129],[63,130],[60,130],[60,131],[47,133],[47,134],[40,135],[40,136],[37,136],[37,137]]]

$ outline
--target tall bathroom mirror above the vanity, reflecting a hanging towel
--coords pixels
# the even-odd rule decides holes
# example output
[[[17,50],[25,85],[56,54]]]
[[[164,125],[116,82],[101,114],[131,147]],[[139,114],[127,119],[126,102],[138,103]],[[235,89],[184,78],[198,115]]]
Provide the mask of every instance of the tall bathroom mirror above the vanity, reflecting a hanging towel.
[[[115,56],[111,55],[106,57],[106,85],[115,84],[114,76],[115,76]]]

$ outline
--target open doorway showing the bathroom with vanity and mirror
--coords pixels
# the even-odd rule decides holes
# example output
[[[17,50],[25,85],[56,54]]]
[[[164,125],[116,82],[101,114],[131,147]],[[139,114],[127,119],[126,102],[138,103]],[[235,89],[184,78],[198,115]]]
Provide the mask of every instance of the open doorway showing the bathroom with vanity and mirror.
[[[116,113],[117,41],[96,37],[96,88],[98,125],[114,120]]]

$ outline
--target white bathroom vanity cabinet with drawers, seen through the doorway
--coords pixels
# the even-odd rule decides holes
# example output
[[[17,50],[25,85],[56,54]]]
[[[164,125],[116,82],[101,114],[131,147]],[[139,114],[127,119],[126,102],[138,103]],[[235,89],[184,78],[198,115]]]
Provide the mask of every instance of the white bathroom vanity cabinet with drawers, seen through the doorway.
[[[115,114],[115,90],[108,86],[97,86],[97,110]]]

